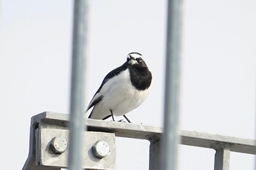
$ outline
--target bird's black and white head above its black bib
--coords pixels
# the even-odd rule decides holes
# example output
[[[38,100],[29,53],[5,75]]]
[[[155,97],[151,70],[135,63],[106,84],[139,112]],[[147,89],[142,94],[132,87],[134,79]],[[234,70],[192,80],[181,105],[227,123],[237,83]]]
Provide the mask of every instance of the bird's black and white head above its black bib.
[[[137,68],[146,68],[147,65],[145,61],[143,61],[143,55],[140,53],[129,53],[127,55],[127,63],[129,66],[137,67]]]

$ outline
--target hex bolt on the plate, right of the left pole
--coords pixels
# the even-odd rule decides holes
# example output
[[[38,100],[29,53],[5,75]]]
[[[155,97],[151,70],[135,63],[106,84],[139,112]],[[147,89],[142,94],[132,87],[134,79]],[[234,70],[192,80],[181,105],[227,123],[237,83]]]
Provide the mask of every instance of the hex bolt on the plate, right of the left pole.
[[[91,149],[97,158],[105,158],[110,153],[110,147],[105,141],[97,141]]]

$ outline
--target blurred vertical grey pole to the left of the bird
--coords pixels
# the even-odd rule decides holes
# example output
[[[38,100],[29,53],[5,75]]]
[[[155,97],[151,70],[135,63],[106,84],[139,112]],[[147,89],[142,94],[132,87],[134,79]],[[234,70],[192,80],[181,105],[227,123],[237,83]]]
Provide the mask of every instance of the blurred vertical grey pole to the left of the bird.
[[[72,82],[69,124],[69,170],[82,169],[83,113],[85,109],[85,67],[86,67],[86,0],[75,0]]]

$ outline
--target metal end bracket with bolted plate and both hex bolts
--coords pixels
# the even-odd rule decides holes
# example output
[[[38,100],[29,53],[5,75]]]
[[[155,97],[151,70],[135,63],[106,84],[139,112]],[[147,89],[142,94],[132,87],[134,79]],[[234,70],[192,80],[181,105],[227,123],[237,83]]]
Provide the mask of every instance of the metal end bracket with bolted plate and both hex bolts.
[[[67,168],[69,152],[67,122],[54,123],[45,116],[47,116],[46,112],[31,117],[29,157],[23,170]],[[64,117],[67,116],[64,115]],[[83,169],[116,169],[114,133],[84,131],[83,139],[83,148],[81,148]]]

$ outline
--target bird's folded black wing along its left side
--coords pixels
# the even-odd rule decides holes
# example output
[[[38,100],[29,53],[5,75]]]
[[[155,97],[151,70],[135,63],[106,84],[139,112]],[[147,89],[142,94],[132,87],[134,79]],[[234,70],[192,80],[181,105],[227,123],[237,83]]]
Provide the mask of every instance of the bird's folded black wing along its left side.
[[[105,83],[108,82],[108,80],[110,80],[112,77],[118,75],[120,72],[124,71],[125,69],[127,69],[127,62],[125,62],[122,66],[119,66],[118,68],[113,69],[111,72],[109,72],[105,76],[104,80],[102,81],[102,84],[99,86],[99,89],[94,94],[94,97],[91,99],[91,102],[89,103],[89,106],[87,107],[86,112],[89,109],[91,109],[91,107],[94,107],[97,103],[99,103],[99,101],[101,101],[102,98],[104,97],[104,93],[102,93],[103,85],[105,85]]]

